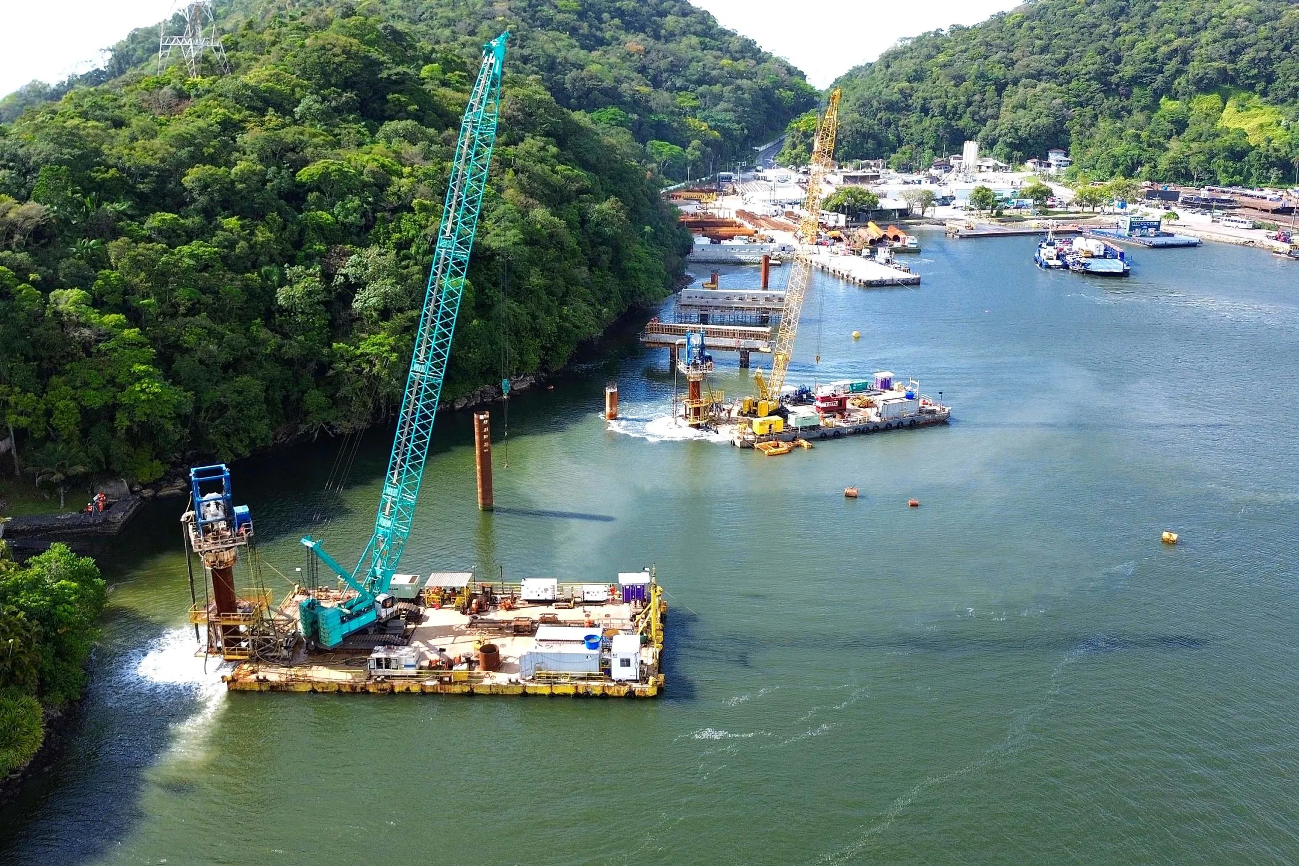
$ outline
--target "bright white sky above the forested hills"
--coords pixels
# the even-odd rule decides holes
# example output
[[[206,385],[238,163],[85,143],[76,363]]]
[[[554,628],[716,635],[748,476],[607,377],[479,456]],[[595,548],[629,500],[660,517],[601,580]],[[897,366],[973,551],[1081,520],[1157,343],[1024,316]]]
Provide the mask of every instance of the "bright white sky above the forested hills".
[[[436,0],[433,0],[436,1]],[[801,6],[788,0],[695,0],[725,27],[756,40],[825,87],[903,36],[972,25],[1018,0],[865,0]],[[0,0],[0,95],[32,79],[56,82],[96,65],[100,51],[151,26],[173,0]]]

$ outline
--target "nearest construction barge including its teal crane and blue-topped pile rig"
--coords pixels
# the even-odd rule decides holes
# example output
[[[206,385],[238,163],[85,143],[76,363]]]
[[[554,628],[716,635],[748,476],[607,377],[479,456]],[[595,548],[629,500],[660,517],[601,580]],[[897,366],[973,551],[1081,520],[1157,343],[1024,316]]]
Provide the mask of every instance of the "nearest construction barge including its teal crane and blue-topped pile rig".
[[[664,687],[668,606],[652,569],[612,583],[399,573],[486,192],[508,38],[503,32],[483,45],[461,119],[374,532],[356,565],[344,566],[322,539],[307,535],[305,574],[273,605],[252,514],[234,504],[230,470],[223,464],[190,470],[191,506],[181,518],[190,622],[199,654],[233,663],[223,676],[231,691],[653,697]],[[474,415],[474,453],[478,508],[491,510],[486,413]],[[330,478],[342,484],[333,470]],[[203,566],[201,601],[195,557]]]

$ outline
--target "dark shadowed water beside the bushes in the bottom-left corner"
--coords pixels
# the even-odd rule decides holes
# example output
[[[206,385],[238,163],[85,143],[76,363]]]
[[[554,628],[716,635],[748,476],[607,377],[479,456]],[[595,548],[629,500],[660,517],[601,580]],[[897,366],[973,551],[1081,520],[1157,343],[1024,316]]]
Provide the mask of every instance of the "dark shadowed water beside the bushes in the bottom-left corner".
[[[166,634],[160,623],[114,610],[112,644],[96,652],[84,704],[66,750],[0,809],[0,862],[99,862],[147,818],[147,775],[173,744],[174,727],[200,709],[197,683],[156,682],[140,663]]]

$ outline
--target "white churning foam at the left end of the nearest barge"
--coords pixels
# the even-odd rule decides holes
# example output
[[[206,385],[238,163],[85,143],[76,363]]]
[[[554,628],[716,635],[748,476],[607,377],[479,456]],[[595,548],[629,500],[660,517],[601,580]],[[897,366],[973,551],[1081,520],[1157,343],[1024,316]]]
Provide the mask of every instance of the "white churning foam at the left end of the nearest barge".
[[[155,686],[179,688],[196,701],[195,711],[173,728],[173,757],[200,761],[207,757],[205,734],[225,705],[226,687],[221,675],[225,662],[195,656],[192,628],[173,628],[153,641],[135,666],[135,674]]]

